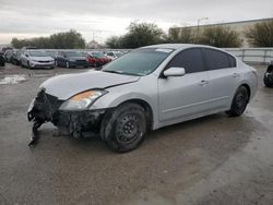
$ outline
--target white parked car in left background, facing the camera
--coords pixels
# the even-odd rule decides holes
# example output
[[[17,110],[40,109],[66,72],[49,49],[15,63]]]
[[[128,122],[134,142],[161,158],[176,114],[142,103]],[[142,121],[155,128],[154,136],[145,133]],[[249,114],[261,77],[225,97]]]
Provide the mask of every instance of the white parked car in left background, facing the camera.
[[[55,60],[41,50],[25,50],[21,58],[22,67],[28,69],[45,68],[54,69]]]

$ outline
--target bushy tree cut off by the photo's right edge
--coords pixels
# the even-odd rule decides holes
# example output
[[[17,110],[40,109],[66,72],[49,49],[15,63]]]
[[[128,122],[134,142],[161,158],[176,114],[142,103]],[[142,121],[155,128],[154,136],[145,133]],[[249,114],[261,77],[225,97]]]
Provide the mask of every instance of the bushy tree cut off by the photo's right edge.
[[[273,20],[254,24],[245,35],[254,47],[273,47]]]

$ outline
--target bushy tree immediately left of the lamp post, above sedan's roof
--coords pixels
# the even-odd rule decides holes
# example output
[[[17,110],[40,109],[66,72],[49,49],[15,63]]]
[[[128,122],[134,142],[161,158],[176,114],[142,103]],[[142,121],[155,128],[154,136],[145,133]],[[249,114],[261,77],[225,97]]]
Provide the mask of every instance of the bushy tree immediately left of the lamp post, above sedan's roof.
[[[191,27],[170,27],[167,43],[173,44],[193,44],[195,43],[195,34]]]

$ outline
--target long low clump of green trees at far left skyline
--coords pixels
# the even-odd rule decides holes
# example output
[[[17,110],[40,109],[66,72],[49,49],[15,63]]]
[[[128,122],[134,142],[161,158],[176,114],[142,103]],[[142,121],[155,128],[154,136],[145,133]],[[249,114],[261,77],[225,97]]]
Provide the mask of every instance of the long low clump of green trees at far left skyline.
[[[12,38],[11,45],[14,48],[33,46],[37,48],[75,49],[85,48],[85,40],[80,33],[74,29],[70,29],[69,32],[54,34],[49,37],[37,37],[29,39]]]

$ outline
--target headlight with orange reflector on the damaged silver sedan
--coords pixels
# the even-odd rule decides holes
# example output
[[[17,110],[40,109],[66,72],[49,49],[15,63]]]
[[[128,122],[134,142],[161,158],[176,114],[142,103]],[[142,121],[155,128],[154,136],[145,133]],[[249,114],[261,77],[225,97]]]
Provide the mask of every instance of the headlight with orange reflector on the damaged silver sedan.
[[[60,110],[85,110],[87,109],[96,99],[105,95],[106,91],[86,91],[74,95],[67,101],[64,101]]]

